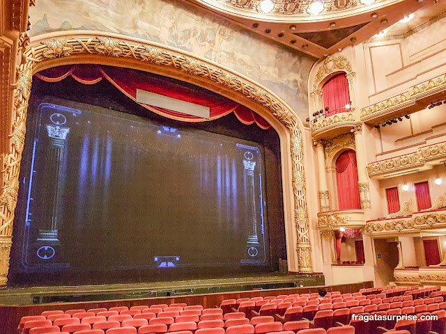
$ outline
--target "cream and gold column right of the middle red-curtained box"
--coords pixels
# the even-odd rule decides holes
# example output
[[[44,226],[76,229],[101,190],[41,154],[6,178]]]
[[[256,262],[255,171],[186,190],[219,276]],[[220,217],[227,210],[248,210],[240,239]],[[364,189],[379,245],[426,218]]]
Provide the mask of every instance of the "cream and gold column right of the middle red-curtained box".
[[[369,181],[366,173],[366,158],[364,134],[362,134],[362,125],[356,125],[351,129],[355,135],[356,164],[357,164],[357,185],[360,191],[361,209],[370,209]]]

